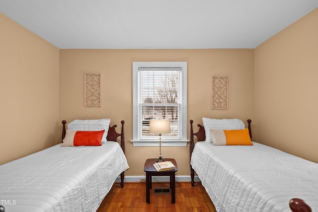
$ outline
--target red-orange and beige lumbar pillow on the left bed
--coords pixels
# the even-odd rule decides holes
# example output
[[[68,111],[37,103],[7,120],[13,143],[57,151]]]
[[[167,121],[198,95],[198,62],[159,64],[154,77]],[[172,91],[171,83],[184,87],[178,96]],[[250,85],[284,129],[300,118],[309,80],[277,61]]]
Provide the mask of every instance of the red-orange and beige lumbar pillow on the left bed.
[[[100,131],[67,130],[62,146],[101,146],[104,132],[104,129]]]

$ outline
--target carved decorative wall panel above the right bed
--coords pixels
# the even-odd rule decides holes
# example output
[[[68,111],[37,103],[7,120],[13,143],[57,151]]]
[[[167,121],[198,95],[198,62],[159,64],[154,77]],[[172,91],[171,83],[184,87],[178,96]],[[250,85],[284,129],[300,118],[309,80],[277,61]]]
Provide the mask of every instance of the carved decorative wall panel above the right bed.
[[[211,77],[211,109],[228,109],[228,86],[229,77]]]

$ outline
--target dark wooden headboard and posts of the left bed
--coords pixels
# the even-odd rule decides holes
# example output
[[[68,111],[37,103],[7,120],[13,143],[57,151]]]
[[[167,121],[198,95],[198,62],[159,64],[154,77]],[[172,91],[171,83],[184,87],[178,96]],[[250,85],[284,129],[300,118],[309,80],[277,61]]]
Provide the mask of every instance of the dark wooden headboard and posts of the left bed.
[[[125,129],[124,129],[124,123],[125,121],[122,120],[121,121],[121,133],[117,133],[116,132],[116,127],[117,125],[113,125],[113,126],[109,126],[108,128],[108,134],[107,134],[107,141],[117,141],[117,138],[120,136],[120,147],[122,148],[124,154],[125,154]],[[63,139],[65,138],[65,134],[66,134],[66,120],[62,121],[63,124],[63,129],[62,129],[62,143],[63,143]],[[125,178],[125,172],[122,172],[120,174],[120,186],[121,188],[124,187],[124,178]]]

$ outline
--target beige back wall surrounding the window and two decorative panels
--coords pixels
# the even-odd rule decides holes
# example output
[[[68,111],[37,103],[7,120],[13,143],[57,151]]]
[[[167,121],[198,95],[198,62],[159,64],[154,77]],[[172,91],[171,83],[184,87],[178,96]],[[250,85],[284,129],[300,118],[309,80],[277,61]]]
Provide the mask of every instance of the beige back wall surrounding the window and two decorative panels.
[[[60,117],[67,121],[111,118],[125,120],[127,176],[144,175],[147,158],[156,158],[159,147],[133,147],[132,62],[186,61],[188,66],[188,120],[202,124],[202,116],[253,119],[254,50],[66,50],[60,51]],[[84,107],[84,73],[102,74],[102,106]],[[229,76],[229,109],[212,110],[211,76]],[[189,128],[189,124],[188,124]],[[189,135],[189,133],[188,133]],[[188,136],[189,137],[189,136]],[[163,157],[175,158],[178,175],[189,175],[189,148],[162,147]]]

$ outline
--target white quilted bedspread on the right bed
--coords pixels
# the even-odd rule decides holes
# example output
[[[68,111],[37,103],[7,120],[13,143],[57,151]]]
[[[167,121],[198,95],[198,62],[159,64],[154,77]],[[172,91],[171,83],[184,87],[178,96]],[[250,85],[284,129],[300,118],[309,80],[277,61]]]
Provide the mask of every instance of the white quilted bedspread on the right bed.
[[[191,165],[218,212],[290,212],[292,198],[318,212],[318,164],[256,142],[195,144]]]

